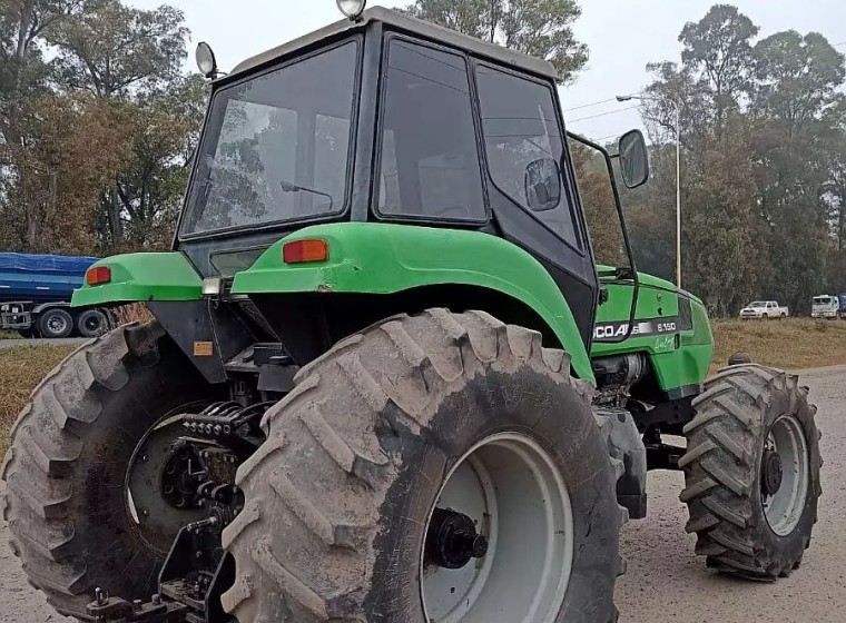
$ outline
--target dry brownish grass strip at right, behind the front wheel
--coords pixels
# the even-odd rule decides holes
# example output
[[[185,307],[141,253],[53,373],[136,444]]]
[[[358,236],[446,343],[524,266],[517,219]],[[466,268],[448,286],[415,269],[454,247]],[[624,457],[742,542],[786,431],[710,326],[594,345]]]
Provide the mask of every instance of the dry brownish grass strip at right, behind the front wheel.
[[[716,320],[715,367],[734,353],[747,353],[758,364],[784,369],[846,364],[846,322],[786,318],[784,320]]]

